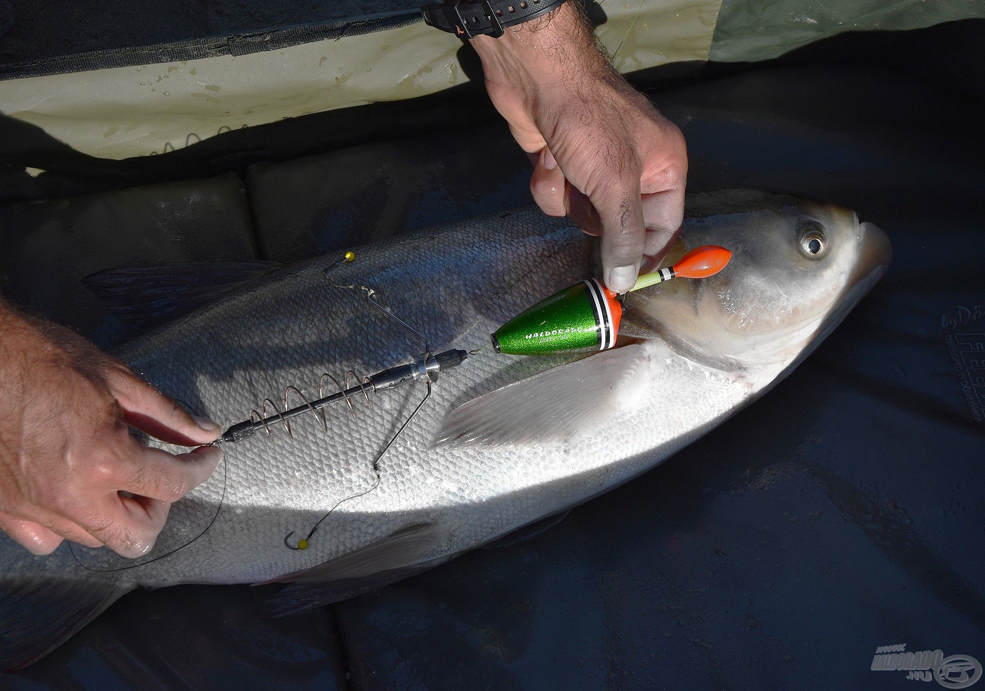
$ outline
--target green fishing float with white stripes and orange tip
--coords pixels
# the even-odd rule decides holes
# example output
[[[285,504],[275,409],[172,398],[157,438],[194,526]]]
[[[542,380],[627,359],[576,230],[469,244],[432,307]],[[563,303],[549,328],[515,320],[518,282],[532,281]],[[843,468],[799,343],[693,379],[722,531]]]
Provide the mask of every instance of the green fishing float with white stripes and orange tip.
[[[718,245],[691,250],[672,267],[641,276],[629,292],[675,277],[706,279],[729,263],[732,252]],[[575,283],[541,300],[493,334],[496,352],[547,355],[572,350],[605,350],[616,345],[623,295],[596,279]]]

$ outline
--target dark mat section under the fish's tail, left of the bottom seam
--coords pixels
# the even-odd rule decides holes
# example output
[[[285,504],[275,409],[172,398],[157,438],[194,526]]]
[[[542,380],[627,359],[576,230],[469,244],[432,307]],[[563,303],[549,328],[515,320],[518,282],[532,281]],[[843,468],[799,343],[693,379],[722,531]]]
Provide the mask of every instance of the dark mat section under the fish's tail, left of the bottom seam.
[[[166,597],[160,597],[166,594]],[[134,593],[3,688],[345,689],[331,611],[271,619],[269,588]]]

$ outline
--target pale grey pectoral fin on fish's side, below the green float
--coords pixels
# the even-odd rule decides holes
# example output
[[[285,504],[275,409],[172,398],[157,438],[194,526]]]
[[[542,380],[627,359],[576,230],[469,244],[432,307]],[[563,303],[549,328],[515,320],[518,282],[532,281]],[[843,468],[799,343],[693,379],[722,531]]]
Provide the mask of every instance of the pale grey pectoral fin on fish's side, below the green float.
[[[596,429],[645,392],[650,366],[638,344],[558,365],[452,410],[437,447],[557,443]]]

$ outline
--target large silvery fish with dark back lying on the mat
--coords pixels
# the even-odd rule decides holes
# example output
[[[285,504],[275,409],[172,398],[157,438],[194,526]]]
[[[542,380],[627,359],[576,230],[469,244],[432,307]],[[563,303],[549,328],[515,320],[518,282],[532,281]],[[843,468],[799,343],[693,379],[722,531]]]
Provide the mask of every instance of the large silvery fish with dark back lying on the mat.
[[[38,660],[136,588],[284,583],[270,608],[285,615],[508,542],[755,402],[891,257],[878,226],[833,204],[723,190],[689,194],[686,210],[664,263],[704,244],[729,248],[731,263],[627,295],[620,340],[604,351],[524,357],[490,344],[499,325],[598,267],[592,238],[533,208],[353,248],[352,262],[255,267],[120,346],[147,381],[226,425],[423,352],[469,354],[429,387],[365,391],[324,418],[294,418],[290,432],[274,421],[224,444],[223,464],[137,559],[67,542],[38,557],[0,536],[0,665]],[[134,283],[122,284],[139,300]],[[160,303],[163,283],[151,283]]]

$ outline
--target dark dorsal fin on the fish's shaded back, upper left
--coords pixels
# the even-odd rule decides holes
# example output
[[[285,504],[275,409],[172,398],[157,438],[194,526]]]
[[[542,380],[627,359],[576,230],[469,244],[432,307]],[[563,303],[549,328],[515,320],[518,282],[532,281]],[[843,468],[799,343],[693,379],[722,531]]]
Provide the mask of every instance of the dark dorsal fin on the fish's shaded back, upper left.
[[[82,283],[128,326],[162,326],[279,269],[276,262],[187,262],[108,269]]]

